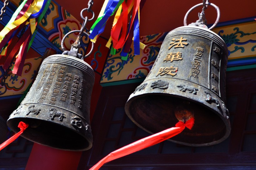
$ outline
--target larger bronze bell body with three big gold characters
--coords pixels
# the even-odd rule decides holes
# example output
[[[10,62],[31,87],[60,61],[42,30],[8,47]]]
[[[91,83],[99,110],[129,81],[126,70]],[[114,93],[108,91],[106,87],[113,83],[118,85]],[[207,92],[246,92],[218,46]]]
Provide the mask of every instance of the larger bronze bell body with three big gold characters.
[[[170,140],[189,146],[220,143],[230,134],[227,56],[224,41],[208,29],[185,26],[169,32],[148,76],[130,95],[126,114],[152,134],[194,116],[192,130]]]

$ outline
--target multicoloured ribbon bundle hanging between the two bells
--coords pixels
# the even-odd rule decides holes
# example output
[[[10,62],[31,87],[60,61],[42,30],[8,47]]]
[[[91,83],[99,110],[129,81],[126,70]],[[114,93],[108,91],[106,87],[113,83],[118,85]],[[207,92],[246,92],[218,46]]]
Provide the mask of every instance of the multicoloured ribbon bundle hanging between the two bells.
[[[121,56],[125,56],[124,59],[127,59],[126,56],[128,56],[132,40],[134,40],[134,54],[139,55],[140,48],[145,48],[145,45],[140,43],[139,34],[140,1],[141,0],[106,0],[96,22],[91,27],[91,35],[89,36],[91,41],[96,41],[97,36],[104,31],[108,18],[117,10],[111,29],[111,37],[106,46],[110,48],[111,42],[113,43],[111,53],[114,52],[112,48],[123,48]],[[131,10],[132,12],[129,16]],[[130,20],[130,22],[128,22],[128,20]],[[133,32],[130,33],[132,27]]]

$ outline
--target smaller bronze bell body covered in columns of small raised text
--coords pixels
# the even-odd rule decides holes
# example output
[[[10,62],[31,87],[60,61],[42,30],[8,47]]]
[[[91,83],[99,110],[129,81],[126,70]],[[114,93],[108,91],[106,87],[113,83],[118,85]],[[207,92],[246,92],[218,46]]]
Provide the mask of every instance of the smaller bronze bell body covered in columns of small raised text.
[[[67,55],[47,57],[7,125],[17,133],[20,121],[28,123],[29,128],[21,136],[42,145],[74,151],[90,149],[94,77],[91,66],[80,59]]]

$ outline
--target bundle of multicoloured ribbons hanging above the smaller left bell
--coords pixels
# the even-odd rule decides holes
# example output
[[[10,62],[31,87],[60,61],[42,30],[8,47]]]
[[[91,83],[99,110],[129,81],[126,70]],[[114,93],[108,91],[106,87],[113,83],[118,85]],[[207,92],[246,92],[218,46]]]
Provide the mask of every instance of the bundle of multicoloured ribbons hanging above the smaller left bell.
[[[6,54],[7,49],[3,48],[6,44],[10,44],[12,37],[17,35],[17,33],[26,27],[25,24],[29,24],[26,32],[20,37],[18,42],[15,44],[14,48],[7,57],[3,68],[7,69],[12,61],[12,58],[17,54],[17,59],[15,61],[12,73],[21,75],[25,56],[28,49],[30,48],[36,31],[37,23],[40,23],[42,17],[45,15],[51,0],[24,0],[22,4],[14,12],[11,20],[0,32],[0,49],[4,50],[1,54]],[[33,36],[32,36],[33,35]],[[32,37],[32,39],[31,39]]]

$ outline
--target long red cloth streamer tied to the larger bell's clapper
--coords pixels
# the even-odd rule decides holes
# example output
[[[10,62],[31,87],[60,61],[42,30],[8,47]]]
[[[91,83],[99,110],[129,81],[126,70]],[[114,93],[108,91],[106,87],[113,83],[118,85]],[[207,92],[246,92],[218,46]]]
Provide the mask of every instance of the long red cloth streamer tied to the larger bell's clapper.
[[[111,152],[106,157],[101,159],[98,163],[96,163],[90,170],[98,170],[104,163],[107,163],[117,158],[121,158],[123,156],[129,155],[131,153],[137,152],[139,150],[148,148],[164,140],[167,140],[177,134],[180,134],[185,129],[185,127],[187,127],[188,129],[192,129],[193,125],[194,118],[189,119],[186,123],[179,121],[173,128],[166,129],[162,132],[153,134],[146,138],[142,138],[134,143],[131,143],[120,149],[117,149],[114,152]]]

